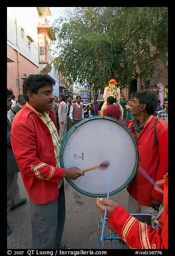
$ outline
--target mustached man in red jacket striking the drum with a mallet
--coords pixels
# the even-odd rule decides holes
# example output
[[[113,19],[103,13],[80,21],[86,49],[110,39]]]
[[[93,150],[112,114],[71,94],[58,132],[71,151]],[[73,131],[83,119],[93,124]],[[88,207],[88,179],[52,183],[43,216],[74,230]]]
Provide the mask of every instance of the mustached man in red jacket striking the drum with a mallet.
[[[11,128],[12,150],[30,198],[33,249],[60,249],[65,221],[63,177],[76,180],[84,175],[77,167],[60,168],[54,85],[49,75],[29,75],[23,84],[26,104]]]

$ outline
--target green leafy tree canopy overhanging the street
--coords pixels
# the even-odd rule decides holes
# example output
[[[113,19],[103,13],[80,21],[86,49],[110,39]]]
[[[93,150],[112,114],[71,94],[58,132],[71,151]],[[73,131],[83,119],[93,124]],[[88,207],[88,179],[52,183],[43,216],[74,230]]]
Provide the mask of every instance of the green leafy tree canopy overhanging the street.
[[[166,61],[167,8],[78,7],[57,19],[54,68],[71,82],[104,88],[111,78],[121,88],[132,77],[149,80],[154,72],[150,47]]]

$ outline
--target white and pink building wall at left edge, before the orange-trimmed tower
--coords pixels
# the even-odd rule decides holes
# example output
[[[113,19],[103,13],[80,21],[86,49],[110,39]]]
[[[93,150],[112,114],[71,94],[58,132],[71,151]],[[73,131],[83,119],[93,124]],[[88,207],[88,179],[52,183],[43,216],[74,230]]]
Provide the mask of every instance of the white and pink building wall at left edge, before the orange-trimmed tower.
[[[39,73],[37,25],[37,8],[7,8],[7,87],[16,98],[23,94],[24,79]]]

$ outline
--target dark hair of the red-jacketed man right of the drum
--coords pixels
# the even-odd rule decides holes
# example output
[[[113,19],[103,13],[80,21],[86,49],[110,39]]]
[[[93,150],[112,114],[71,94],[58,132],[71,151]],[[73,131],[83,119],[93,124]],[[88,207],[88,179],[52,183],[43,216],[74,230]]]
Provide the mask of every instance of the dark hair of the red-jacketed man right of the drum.
[[[138,101],[142,104],[146,104],[146,111],[150,115],[153,115],[157,105],[158,105],[158,97],[154,93],[154,91],[150,90],[142,90],[136,91],[133,98],[138,98]]]

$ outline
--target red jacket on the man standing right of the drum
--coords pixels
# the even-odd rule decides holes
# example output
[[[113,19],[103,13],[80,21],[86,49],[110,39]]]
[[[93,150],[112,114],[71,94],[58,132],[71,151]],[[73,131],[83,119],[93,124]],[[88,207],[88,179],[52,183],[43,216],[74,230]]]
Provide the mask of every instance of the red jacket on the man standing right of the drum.
[[[155,119],[157,119],[157,117],[150,115],[138,138],[133,129],[136,119],[131,120],[128,123],[128,127],[136,138],[139,155],[138,167],[141,166],[156,185],[163,189],[168,170],[168,125],[163,119],[157,120],[157,146],[154,133]],[[127,191],[135,198],[139,205],[150,207],[152,197],[156,198],[158,201],[163,200],[163,194],[138,170],[134,179],[129,183]]]

